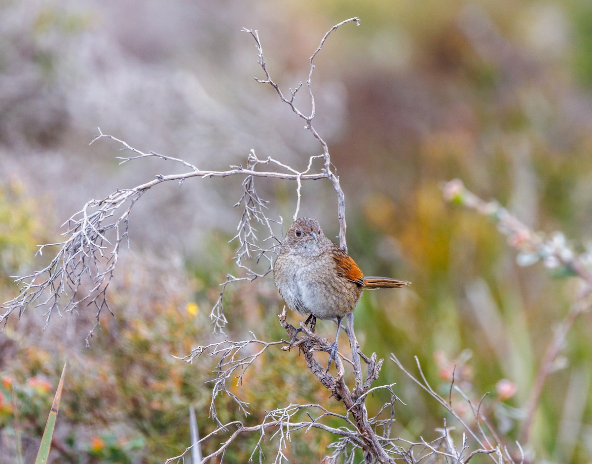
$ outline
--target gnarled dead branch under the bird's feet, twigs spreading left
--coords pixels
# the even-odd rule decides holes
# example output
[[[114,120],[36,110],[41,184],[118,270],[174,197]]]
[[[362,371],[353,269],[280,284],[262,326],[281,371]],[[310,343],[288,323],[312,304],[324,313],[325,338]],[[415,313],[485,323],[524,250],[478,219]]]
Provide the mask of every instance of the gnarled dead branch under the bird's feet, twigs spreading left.
[[[282,312],[280,316],[280,323],[286,329],[287,335],[291,339],[295,333],[295,327],[289,325],[285,322],[286,319],[286,310]],[[278,408],[270,413],[267,413],[264,420],[261,424],[254,427],[243,427],[242,423],[232,422],[230,424],[222,424],[220,420],[218,420],[218,416],[216,414],[215,408],[215,400],[221,393],[226,393],[233,398],[234,401],[239,405],[240,410],[243,411],[244,414],[247,414],[247,404],[240,400],[236,394],[231,392],[228,387],[228,382],[232,379],[232,381],[236,381],[237,385],[242,383],[243,376],[247,369],[253,365],[253,362],[259,356],[263,355],[263,353],[275,345],[284,345],[283,349],[287,349],[289,342],[286,340],[281,340],[278,342],[264,342],[263,340],[259,340],[253,335],[252,339],[249,340],[241,340],[239,342],[235,342],[232,340],[223,340],[217,343],[211,343],[207,346],[199,346],[195,348],[188,356],[185,356],[184,359],[186,362],[193,362],[195,359],[199,358],[203,353],[208,353],[210,356],[218,357],[218,363],[214,370],[215,378],[212,380],[214,384],[213,393],[212,393],[212,400],[210,405],[210,416],[213,417],[215,421],[218,423],[218,429],[215,433],[222,433],[229,429],[230,426],[234,424],[240,424],[239,427],[224,441],[220,447],[218,447],[215,452],[211,453],[210,455],[204,457],[202,462],[208,462],[208,460],[213,459],[214,457],[219,457],[223,454],[224,450],[230,445],[233,440],[235,440],[239,434],[247,433],[247,432],[259,432],[260,439],[256,445],[255,450],[253,450],[253,455],[258,452],[259,459],[262,459],[262,441],[265,437],[265,431],[269,428],[274,428],[275,431],[271,436],[271,439],[274,437],[279,437],[278,441],[278,453],[276,455],[276,459],[274,462],[282,462],[285,460],[285,455],[283,453],[283,449],[287,446],[287,443],[290,440],[290,433],[291,431],[300,430],[300,429],[323,429],[325,431],[330,431],[339,436],[343,436],[346,439],[346,442],[350,444],[350,446],[359,447],[360,449],[366,450],[369,446],[374,446],[372,449],[373,454],[376,456],[378,455],[378,462],[392,462],[382,452],[382,448],[380,445],[380,441],[375,436],[374,429],[372,428],[372,424],[377,423],[380,426],[384,427],[385,424],[378,419],[378,415],[372,418],[371,421],[368,421],[367,415],[365,414],[365,405],[363,404],[363,400],[365,399],[366,395],[368,395],[371,391],[375,391],[377,389],[371,389],[371,379],[378,377],[378,371],[382,366],[382,360],[377,361],[377,356],[374,354],[372,355],[371,359],[373,360],[372,364],[369,365],[369,374],[368,378],[366,379],[365,384],[362,387],[363,397],[355,398],[352,393],[349,391],[349,388],[346,386],[345,381],[343,380],[343,375],[345,373],[343,368],[343,363],[341,358],[338,356],[336,359],[336,366],[337,366],[337,375],[333,377],[333,375],[329,374],[321,364],[319,364],[316,359],[314,359],[313,353],[318,351],[330,352],[331,343],[319,337],[318,335],[310,332],[308,328],[304,325],[301,325],[303,331],[305,333],[304,337],[298,339],[297,346],[292,347],[292,350],[300,349],[304,352],[304,358],[307,362],[307,367],[313,372],[314,375],[318,378],[318,380],[329,390],[332,392],[337,399],[342,399],[347,408],[347,414],[339,414],[333,411],[329,411],[326,408],[322,407],[318,404],[306,404],[306,405],[294,405],[291,404],[285,408]],[[250,351],[248,354],[243,355],[242,351],[247,348],[247,346],[258,345],[260,346],[259,350],[256,352]],[[392,393],[390,387],[385,387],[388,391]],[[396,397],[393,395],[393,400],[389,403],[391,406],[396,401]],[[322,414],[317,416],[310,421],[301,421],[301,422],[292,422],[292,418],[295,414],[299,411],[304,409],[314,409],[320,410]],[[381,410],[382,412],[382,410]],[[351,416],[351,417],[350,417]],[[332,418],[339,418],[343,421],[344,426],[339,428],[329,427],[326,424],[323,424],[321,420],[326,417]],[[387,429],[385,429],[387,430]],[[390,430],[390,429],[388,429]],[[208,435],[207,437],[211,436]],[[204,437],[205,440],[207,437]],[[373,443],[374,442],[374,443]],[[185,455],[187,450],[180,456],[176,456],[172,459],[180,459],[182,456]],[[382,454],[382,456],[380,456]],[[253,456],[252,456],[253,457]],[[169,460],[170,461],[170,460]],[[168,462],[169,462],[168,461]]]

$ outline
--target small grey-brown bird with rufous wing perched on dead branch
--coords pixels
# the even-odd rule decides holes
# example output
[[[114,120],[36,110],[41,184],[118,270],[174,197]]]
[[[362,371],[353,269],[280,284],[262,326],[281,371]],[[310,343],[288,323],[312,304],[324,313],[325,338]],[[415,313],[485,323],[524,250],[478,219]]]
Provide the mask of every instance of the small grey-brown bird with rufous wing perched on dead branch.
[[[289,226],[274,262],[274,282],[289,309],[302,316],[308,314],[304,325],[310,323],[311,332],[317,319],[333,320],[337,324],[327,371],[336,359],[343,318],[353,312],[362,290],[410,284],[388,277],[364,277],[356,262],[324,235],[313,218],[299,218]],[[290,346],[301,330],[297,329]]]

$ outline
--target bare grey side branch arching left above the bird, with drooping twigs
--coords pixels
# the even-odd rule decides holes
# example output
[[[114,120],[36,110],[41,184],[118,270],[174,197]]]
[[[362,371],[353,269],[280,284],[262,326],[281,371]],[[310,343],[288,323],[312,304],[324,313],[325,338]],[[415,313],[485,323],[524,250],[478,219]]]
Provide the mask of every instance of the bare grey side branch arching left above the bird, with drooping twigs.
[[[178,158],[155,152],[141,152],[137,148],[130,147],[123,140],[112,135],[103,134],[100,129],[99,135],[92,142],[102,138],[112,139],[123,145],[121,150],[133,151],[136,154],[133,157],[121,158],[123,160],[121,163],[140,158],[156,157],[191,167],[191,171],[166,176],[157,174],[155,180],[140,184],[132,189],[118,189],[104,199],[93,199],[86,202],[81,211],[75,213],[63,224],[66,226],[66,232],[62,234],[67,237],[65,241],[38,246],[39,255],[42,255],[43,251],[49,246],[60,246],[50,264],[30,275],[13,276],[16,283],[21,287],[20,293],[12,300],[2,304],[1,307],[4,309],[4,313],[0,314],[0,330],[4,329],[9,315],[14,310],[18,310],[18,314],[21,316],[27,307],[45,307],[46,313],[44,316],[46,317],[47,327],[54,311],[61,316],[62,313],[78,311],[82,305],[94,306],[96,308],[96,323],[89,332],[88,343],[96,327],[100,327],[99,317],[102,310],[111,312],[107,300],[107,288],[117,266],[120,247],[127,240],[131,209],[147,190],[158,184],[176,181],[179,186],[182,186],[186,179],[192,177],[205,179],[206,177],[246,176],[243,181],[244,194],[237,204],[243,205],[244,213],[236,236],[239,241],[236,261],[239,268],[246,271],[246,277],[228,276],[226,283],[222,284],[224,289],[226,284],[230,282],[253,280],[256,277],[263,277],[271,270],[272,261],[266,252],[273,251],[274,247],[262,248],[256,245],[254,227],[250,224],[250,220],[255,219],[257,222],[263,223],[268,229],[269,236],[263,239],[262,242],[273,236],[272,224],[281,224],[281,221],[266,218],[262,214],[265,201],[261,200],[255,192],[253,187],[254,178],[267,177],[280,180],[295,180],[298,184],[297,196],[300,199],[302,180],[320,180],[329,177],[324,173],[309,174],[314,157],[311,157],[308,167],[303,172],[299,172],[271,157],[266,160],[259,160],[255,152],[251,151],[247,158],[247,168],[231,166],[231,169],[227,171],[205,171]],[[260,164],[272,164],[279,168],[285,168],[289,173],[258,171],[256,167]],[[127,245],[129,246],[129,244]],[[264,257],[268,262],[268,268],[263,272],[253,271],[244,265],[243,259],[247,257],[256,259]],[[221,331],[226,323],[221,306],[222,295],[223,292],[221,292],[220,299],[212,311],[214,330],[218,331]]]

